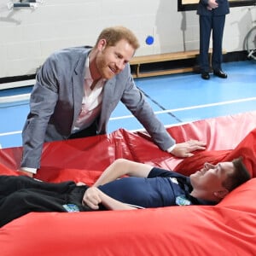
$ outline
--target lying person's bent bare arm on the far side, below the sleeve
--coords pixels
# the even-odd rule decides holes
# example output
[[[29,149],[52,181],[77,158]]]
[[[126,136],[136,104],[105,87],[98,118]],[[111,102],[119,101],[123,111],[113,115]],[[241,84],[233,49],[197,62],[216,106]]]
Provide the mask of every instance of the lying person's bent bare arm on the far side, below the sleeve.
[[[115,160],[108,168],[102,173],[96,183],[95,187],[109,183],[119,177],[128,175],[136,177],[148,177],[148,173],[152,170],[153,166],[142,163],[137,163],[131,160],[118,159]]]

